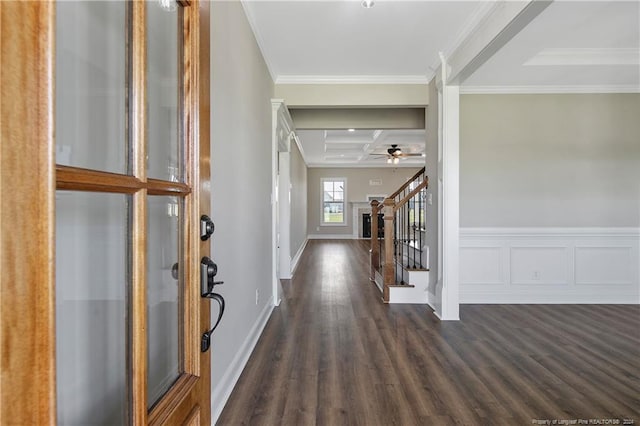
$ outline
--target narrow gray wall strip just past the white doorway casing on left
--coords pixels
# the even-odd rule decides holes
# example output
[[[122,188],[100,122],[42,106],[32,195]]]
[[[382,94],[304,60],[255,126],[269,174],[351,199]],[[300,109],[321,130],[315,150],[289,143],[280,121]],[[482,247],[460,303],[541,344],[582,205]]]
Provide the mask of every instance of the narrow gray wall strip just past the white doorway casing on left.
[[[291,143],[291,257],[307,239],[307,165],[298,145]]]

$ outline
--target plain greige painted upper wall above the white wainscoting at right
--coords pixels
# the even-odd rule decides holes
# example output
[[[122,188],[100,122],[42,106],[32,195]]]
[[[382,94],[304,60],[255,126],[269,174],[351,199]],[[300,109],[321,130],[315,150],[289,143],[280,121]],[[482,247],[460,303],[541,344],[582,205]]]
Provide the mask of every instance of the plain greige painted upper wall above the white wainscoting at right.
[[[460,226],[640,226],[640,95],[464,95]]]

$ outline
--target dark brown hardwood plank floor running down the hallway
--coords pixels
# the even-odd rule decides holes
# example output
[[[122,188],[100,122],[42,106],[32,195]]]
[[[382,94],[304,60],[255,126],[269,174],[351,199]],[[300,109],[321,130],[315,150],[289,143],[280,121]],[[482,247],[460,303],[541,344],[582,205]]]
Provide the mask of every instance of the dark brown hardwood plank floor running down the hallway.
[[[218,425],[640,425],[640,306],[462,305],[440,322],[382,304],[367,250],[309,241]]]

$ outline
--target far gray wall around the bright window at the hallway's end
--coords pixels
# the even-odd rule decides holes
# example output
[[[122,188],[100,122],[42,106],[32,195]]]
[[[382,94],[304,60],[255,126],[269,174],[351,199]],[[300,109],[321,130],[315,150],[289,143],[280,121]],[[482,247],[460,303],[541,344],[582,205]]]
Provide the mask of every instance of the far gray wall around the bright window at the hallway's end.
[[[419,168],[309,168],[308,174],[308,233],[353,234],[351,205],[349,201],[365,201],[367,194],[389,195],[416,174]],[[347,178],[347,212],[345,226],[320,225],[320,179],[323,177]],[[369,180],[381,179],[382,185],[371,186]]]

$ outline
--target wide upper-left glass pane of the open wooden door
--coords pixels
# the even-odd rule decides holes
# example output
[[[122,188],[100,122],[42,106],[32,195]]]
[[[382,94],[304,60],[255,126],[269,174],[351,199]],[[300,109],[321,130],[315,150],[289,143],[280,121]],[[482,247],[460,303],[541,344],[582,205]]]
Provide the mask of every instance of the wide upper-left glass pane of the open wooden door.
[[[127,2],[56,2],[56,162],[127,173]]]

